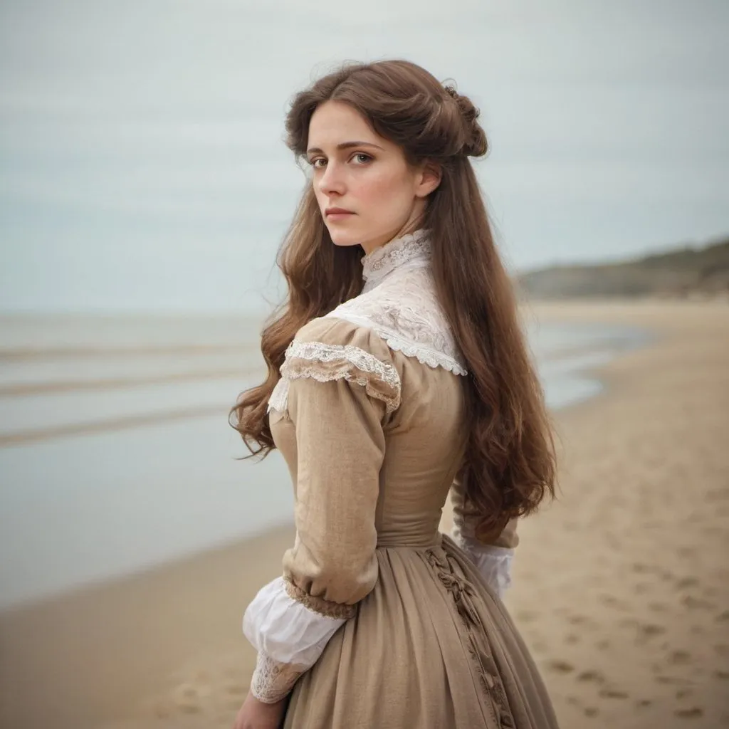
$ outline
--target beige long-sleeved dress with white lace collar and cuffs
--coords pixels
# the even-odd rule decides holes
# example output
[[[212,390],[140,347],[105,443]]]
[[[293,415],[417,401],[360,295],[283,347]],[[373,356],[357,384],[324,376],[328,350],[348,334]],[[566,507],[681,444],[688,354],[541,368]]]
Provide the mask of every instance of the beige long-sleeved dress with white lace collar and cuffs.
[[[364,293],[298,332],[271,398],[297,538],[243,626],[285,727],[557,726],[499,598],[514,525],[478,545],[461,512],[465,367],[428,262],[424,231],[365,257]]]

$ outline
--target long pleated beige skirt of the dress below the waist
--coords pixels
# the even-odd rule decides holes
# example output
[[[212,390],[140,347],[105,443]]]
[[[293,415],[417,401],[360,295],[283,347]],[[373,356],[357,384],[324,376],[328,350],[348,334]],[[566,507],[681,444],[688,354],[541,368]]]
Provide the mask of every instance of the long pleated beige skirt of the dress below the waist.
[[[504,604],[449,538],[378,547],[379,577],[297,682],[286,729],[553,729]]]

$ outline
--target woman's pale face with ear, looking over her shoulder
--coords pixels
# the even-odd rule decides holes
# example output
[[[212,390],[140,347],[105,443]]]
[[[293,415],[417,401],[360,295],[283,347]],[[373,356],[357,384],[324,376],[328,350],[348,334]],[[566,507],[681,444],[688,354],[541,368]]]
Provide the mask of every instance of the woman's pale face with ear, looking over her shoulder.
[[[359,243],[367,253],[416,222],[439,182],[424,165],[411,168],[397,144],[341,101],[326,101],[313,113],[307,158],[332,241]]]

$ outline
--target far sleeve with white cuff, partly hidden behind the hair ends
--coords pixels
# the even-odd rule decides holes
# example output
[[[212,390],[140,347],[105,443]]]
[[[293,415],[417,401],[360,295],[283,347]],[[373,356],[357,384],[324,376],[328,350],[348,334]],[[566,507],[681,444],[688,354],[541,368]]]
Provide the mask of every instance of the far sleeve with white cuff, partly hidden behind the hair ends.
[[[478,571],[494,592],[502,598],[511,585],[511,563],[515,547],[519,543],[518,519],[506,523],[498,534],[486,542],[476,537],[472,516],[465,513],[464,485],[456,479],[451,486],[453,505],[453,529],[451,537],[475,564]]]

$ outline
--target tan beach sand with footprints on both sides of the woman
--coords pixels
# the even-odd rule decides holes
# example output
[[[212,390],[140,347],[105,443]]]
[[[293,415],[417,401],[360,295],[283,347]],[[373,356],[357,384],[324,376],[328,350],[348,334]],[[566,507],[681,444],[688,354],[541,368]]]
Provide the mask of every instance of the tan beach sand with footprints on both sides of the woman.
[[[521,525],[506,603],[561,726],[729,726],[729,306],[531,312],[654,335],[558,413],[559,499]],[[292,535],[0,615],[0,726],[230,727],[254,662],[241,615]]]

